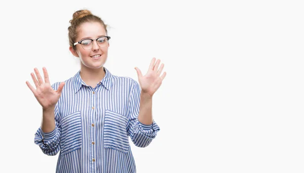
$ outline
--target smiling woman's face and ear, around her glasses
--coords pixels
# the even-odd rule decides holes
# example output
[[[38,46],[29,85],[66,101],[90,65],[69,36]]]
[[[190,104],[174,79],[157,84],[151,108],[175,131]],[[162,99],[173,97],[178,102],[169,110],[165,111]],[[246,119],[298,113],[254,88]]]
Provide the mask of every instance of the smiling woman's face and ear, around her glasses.
[[[107,36],[104,27],[98,22],[86,22],[80,26],[76,41],[81,41],[85,38],[96,39],[100,36]],[[80,58],[82,68],[97,69],[103,67],[106,62],[108,47],[109,44],[106,43],[105,47],[100,48],[97,45],[97,41],[94,40],[93,48],[90,50],[83,49],[81,44],[76,45],[75,51],[72,47],[69,50],[74,56]]]

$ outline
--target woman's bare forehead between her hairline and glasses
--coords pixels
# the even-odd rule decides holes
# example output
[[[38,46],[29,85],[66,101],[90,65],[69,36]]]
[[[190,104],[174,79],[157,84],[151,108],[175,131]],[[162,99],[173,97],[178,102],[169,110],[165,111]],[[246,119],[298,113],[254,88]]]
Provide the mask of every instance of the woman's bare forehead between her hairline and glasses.
[[[98,22],[86,22],[79,27],[78,38],[95,38],[106,35],[104,27]]]

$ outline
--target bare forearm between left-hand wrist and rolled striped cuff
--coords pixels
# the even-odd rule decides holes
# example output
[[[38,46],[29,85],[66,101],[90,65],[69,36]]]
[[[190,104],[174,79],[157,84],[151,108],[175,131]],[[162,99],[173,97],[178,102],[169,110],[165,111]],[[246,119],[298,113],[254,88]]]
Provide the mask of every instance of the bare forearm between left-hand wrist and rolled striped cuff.
[[[55,129],[55,107],[43,109],[41,129],[44,133],[50,133]]]

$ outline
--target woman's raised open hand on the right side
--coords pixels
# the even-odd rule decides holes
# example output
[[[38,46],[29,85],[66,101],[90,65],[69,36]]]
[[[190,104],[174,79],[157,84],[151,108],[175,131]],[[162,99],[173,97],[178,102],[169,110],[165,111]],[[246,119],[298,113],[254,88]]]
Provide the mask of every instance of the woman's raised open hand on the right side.
[[[156,61],[156,58],[153,58],[151,60],[149,69],[144,76],[141,74],[141,71],[139,70],[139,68],[135,67],[135,70],[136,70],[137,76],[138,76],[138,81],[139,81],[140,88],[141,88],[141,92],[144,94],[148,94],[151,97],[160,88],[162,81],[166,77],[166,72],[164,72],[161,75],[163,68],[164,68],[164,64],[161,64],[161,66],[159,68],[161,60],[157,60],[156,63],[155,63],[155,61]]]

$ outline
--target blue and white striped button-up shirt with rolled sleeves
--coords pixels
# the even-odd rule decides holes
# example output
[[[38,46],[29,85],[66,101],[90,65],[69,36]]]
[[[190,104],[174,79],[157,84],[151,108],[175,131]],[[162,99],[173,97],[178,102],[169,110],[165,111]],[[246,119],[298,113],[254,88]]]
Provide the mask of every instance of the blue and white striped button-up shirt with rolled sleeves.
[[[129,136],[135,146],[146,147],[160,130],[155,121],[138,121],[139,84],[104,71],[95,88],[80,71],[66,80],[55,106],[54,131],[44,133],[40,127],[35,133],[34,143],[43,153],[60,151],[56,172],[136,172]]]

